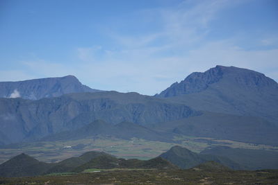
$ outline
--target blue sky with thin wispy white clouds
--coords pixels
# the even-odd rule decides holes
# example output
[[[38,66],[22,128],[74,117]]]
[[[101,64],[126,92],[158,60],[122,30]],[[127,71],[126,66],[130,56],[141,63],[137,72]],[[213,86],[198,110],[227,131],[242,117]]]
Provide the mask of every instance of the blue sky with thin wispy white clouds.
[[[154,95],[216,65],[278,81],[277,0],[0,0],[0,81]]]

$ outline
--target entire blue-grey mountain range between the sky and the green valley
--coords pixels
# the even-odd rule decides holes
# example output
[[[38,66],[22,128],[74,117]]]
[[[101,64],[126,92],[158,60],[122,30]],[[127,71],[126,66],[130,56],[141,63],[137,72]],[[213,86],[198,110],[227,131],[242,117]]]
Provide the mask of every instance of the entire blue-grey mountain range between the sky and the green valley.
[[[97,134],[278,145],[278,84],[250,69],[216,66],[155,96],[90,89],[74,76],[0,82],[0,96],[2,146]]]

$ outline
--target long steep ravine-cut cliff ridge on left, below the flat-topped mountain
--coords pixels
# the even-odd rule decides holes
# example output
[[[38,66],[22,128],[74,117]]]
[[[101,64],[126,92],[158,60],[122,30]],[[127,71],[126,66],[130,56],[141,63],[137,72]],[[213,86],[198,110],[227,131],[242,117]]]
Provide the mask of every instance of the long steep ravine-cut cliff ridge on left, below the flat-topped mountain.
[[[128,121],[148,125],[199,114],[179,103],[115,91],[66,94],[40,100],[0,98],[0,130],[7,138],[1,142],[40,139],[65,130],[76,130],[97,119],[113,124]]]

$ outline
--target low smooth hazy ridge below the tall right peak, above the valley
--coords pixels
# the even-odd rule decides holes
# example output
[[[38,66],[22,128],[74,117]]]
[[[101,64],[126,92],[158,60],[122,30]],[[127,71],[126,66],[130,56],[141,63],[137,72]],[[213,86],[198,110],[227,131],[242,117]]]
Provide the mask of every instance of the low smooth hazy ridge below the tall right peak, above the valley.
[[[277,125],[254,116],[203,112],[200,116],[152,125],[152,130],[278,146]]]

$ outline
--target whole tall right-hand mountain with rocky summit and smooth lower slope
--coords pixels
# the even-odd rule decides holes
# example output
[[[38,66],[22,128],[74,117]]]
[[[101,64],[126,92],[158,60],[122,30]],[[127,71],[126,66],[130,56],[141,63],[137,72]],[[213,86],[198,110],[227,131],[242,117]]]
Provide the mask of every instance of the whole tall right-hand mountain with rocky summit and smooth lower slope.
[[[216,66],[191,73],[156,97],[197,110],[259,116],[278,125],[277,82],[250,69]]]

